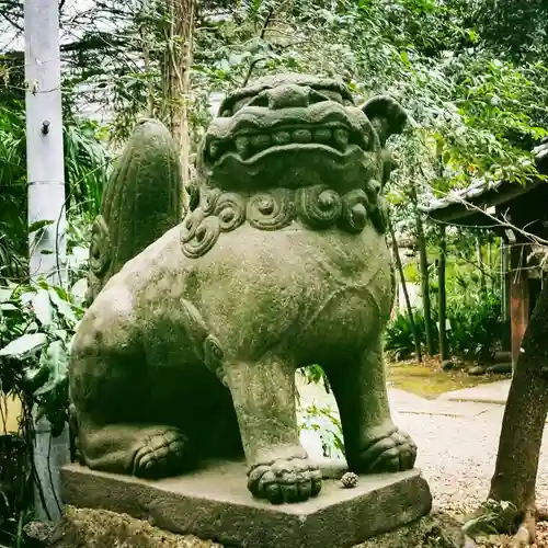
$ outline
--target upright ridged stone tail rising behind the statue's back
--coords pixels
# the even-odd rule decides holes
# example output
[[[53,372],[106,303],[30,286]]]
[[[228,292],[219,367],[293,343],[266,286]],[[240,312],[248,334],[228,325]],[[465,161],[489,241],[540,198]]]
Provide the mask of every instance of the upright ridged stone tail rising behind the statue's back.
[[[163,124],[135,127],[103,190],[92,227],[87,304],[122,266],[181,222],[179,149]]]

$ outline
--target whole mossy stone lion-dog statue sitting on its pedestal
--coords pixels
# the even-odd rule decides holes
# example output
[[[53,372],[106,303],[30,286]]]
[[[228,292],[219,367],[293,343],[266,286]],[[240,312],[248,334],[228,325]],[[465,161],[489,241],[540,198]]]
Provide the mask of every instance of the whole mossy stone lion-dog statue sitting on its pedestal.
[[[180,196],[165,182],[176,150],[158,123],[138,126],[114,175],[125,198],[107,190],[103,209],[119,228],[116,212],[142,201],[132,195],[145,192],[132,186],[139,179],[150,213],[125,222],[134,233],[141,222],[172,228],[149,228],[140,247],[156,241],[134,246],[115,273],[127,227],[114,238],[104,218],[95,227],[94,293],[114,275],[92,295],[71,353],[83,464],[158,478],[243,454],[253,495],[307,500],[321,473],[299,443],[295,370],[320,364],[350,469],[414,466],[415,445],[390,418],[381,347],[395,289],[385,144],[404,124],[391,99],[358,107],[336,81],[260,79],[220,106],[176,226]]]

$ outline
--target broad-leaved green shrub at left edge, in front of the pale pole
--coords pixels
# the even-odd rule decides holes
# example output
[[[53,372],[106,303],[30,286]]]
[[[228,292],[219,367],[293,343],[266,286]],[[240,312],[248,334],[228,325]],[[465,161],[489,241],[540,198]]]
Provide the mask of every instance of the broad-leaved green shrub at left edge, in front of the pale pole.
[[[8,396],[22,403],[18,434],[0,436],[1,448],[10,449],[0,454],[0,541],[13,546],[20,546],[21,528],[33,509],[32,411],[52,423],[53,436],[60,435],[68,422],[67,365],[83,313],[80,301],[78,292],[44,281],[0,287],[0,403]]]

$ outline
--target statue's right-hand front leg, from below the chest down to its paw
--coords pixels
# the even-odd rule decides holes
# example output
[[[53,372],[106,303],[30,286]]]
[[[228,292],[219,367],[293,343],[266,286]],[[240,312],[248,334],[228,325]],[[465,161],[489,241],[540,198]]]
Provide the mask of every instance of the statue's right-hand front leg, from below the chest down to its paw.
[[[324,368],[341,413],[349,468],[362,473],[413,468],[416,446],[390,416],[380,341]]]

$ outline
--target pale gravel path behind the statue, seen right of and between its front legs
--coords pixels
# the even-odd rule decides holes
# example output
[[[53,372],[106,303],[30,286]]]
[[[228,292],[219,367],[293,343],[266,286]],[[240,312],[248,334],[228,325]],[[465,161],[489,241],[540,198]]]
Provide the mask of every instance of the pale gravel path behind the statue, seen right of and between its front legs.
[[[334,399],[321,387],[299,384],[299,391],[305,402],[334,407]],[[419,447],[416,466],[430,483],[434,504],[465,512],[477,507],[489,492],[504,407],[424,400],[401,390],[389,390],[389,396],[395,421],[412,435]],[[547,430],[548,424],[537,477],[537,502],[545,507],[548,506]],[[307,446],[317,447],[312,436]]]

